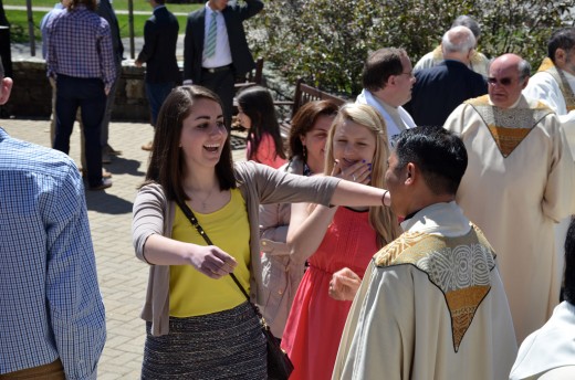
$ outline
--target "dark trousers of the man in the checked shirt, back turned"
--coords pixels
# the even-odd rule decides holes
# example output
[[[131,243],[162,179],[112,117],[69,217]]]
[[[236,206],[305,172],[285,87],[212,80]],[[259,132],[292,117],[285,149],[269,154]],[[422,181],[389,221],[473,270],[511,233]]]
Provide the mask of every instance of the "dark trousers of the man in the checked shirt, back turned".
[[[102,119],[106,109],[104,83],[100,78],[80,78],[58,75],[56,78],[56,133],[54,149],[70,152],[70,135],[74,127],[77,107],[84,125],[84,151],[87,181],[91,187],[102,183]]]

